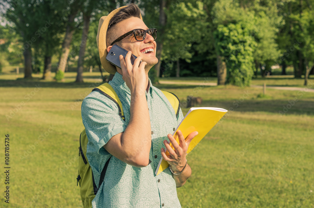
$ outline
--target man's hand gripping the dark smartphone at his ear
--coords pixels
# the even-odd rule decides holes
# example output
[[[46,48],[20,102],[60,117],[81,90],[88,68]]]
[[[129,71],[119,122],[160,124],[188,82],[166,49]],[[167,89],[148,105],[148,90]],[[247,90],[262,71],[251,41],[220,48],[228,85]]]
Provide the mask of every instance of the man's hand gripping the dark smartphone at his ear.
[[[131,94],[134,92],[141,92],[147,88],[148,79],[145,74],[146,62],[140,63],[143,57],[137,57],[134,64],[131,63],[132,52],[127,52],[125,58],[122,55],[119,56],[121,69],[122,69],[122,79],[127,84],[130,89]]]

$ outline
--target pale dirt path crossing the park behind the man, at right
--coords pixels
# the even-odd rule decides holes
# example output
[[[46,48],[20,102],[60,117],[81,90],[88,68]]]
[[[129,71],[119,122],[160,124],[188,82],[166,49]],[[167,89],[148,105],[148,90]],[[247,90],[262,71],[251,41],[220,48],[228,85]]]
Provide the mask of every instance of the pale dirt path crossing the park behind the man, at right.
[[[174,81],[164,81],[160,80],[160,84],[172,84],[172,85],[205,85],[205,86],[217,86],[215,82],[174,82]],[[251,87],[263,88],[263,86],[259,85],[251,85]],[[279,86],[266,86],[266,89],[275,89],[275,90],[298,90],[305,92],[314,92],[314,89],[310,89],[308,87],[279,87]]]

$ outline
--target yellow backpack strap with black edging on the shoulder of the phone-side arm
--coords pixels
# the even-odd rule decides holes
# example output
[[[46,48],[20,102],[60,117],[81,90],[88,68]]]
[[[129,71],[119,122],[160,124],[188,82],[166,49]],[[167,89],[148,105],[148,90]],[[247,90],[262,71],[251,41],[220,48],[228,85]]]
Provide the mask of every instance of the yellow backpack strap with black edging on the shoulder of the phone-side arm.
[[[109,85],[108,83],[104,83],[96,88],[94,88],[92,90],[93,91],[98,91],[101,94],[103,94],[104,96],[108,97],[110,100],[114,101],[119,109],[119,116],[124,119],[124,113],[123,113],[123,109],[122,109],[122,103],[118,97],[118,95],[116,94],[116,91],[111,87],[111,85]]]

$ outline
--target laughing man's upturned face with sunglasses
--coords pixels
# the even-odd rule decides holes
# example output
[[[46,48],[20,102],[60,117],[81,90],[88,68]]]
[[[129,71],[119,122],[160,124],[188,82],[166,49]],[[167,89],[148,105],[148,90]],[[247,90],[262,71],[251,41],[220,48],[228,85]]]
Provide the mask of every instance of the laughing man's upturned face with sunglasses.
[[[137,17],[130,17],[128,19],[125,19],[117,24],[118,27],[118,33],[117,36],[122,36],[123,34],[134,30],[134,29],[149,29],[143,20],[137,18]],[[145,69],[150,69],[152,66],[154,66],[158,59],[156,57],[156,41],[154,41],[154,38],[150,36],[148,33],[146,33],[146,37],[143,41],[137,41],[135,40],[135,37],[133,36],[133,33],[126,38],[122,39],[120,41],[120,44],[122,45],[122,48],[124,48],[127,51],[131,51],[134,56],[142,56],[142,61],[145,61],[147,63]],[[146,52],[147,50],[147,52]],[[152,50],[152,51],[149,51]]]

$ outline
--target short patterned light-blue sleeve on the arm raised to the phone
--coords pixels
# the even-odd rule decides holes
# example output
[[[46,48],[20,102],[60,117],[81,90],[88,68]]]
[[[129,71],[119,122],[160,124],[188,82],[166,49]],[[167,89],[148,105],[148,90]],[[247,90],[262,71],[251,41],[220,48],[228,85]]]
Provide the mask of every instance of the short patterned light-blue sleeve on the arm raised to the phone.
[[[124,132],[127,127],[119,116],[116,103],[94,91],[85,97],[81,110],[88,140],[94,144],[98,154],[109,154],[103,145],[114,135]]]

